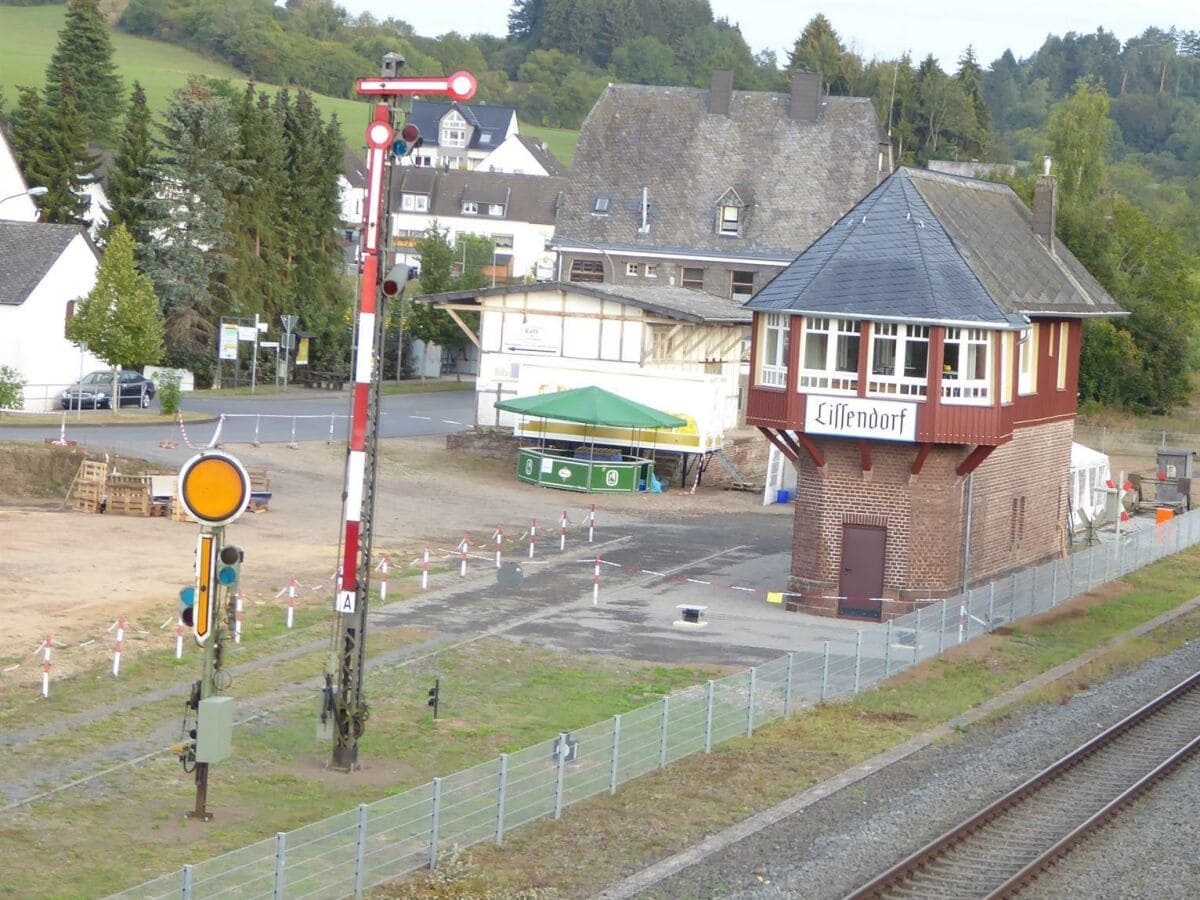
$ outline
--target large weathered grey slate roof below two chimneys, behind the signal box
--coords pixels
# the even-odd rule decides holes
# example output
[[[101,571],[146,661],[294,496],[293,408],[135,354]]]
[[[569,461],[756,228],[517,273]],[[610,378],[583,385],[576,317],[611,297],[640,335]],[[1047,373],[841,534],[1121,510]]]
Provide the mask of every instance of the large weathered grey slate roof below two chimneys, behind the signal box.
[[[709,113],[708,95],[608,85],[583,122],[556,244],[786,260],[878,182],[887,138],[870,100],[822,97],[816,120],[800,121],[786,94],[733,91],[728,115]],[[716,234],[730,188],[745,203],[739,236]]]

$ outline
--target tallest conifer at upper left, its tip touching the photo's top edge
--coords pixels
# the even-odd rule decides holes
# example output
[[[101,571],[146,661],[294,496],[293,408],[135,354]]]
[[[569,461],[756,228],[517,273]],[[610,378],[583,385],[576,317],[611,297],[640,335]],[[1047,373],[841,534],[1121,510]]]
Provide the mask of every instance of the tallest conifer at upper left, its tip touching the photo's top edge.
[[[66,22],[46,70],[46,103],[52,109],[59,104],[67,79],[74,83],[84,133],[104,143],[115,130],[125,91],[113,62],[113,42],[100,13],[100,0],[67,0]]]

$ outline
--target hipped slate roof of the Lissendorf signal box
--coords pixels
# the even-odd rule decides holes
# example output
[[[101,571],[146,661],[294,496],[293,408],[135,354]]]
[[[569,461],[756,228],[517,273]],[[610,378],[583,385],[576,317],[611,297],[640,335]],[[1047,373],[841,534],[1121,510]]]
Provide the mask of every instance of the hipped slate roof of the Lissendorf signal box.
[[[900,168],[746,306],[816,316],[1019,326],[1121,307],[1007,185]]]

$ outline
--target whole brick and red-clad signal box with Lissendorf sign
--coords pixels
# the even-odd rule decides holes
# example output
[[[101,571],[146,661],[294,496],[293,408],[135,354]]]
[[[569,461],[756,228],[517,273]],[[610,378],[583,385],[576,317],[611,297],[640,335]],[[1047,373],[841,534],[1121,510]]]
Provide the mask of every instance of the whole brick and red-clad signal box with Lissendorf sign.
[[[793,606],[890,617],[1058,551],[1082,323],[1123,313],[1054,238],[1046,173],[1031,212],[898,169],[749,301]]]

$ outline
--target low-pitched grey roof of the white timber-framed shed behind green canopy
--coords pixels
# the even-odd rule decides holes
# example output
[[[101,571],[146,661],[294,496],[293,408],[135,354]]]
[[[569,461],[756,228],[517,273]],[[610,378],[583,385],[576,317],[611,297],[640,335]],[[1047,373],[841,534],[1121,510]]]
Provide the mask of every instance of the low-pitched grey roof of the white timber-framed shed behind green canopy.
[[[517,284],[504,288],[486,288],[481,290],[452,290],[444,294],[426,294],[418,298],[421,302],[444,302],[456,300],[475,300],[481,296],[503,296],[505,294],[566,292],[587,294],[602,300],[616,300],[629,306],[636,306],[668,319],[692,323],[733,323],[750,324],[750,312],[744,306],[724,300],[702,290],[689,290],[668,284],[661,287],[641,287],[629,284],[578,283],[578,282],[539,282],[536,284]]]

